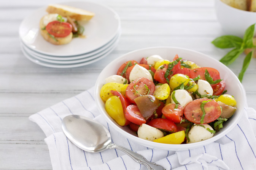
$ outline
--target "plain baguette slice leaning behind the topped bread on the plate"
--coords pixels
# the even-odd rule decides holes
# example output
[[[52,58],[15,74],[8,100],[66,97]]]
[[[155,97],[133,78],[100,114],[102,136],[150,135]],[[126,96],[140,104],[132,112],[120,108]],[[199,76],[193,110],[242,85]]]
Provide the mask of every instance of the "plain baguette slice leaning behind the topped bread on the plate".
[[[46,12],[57,13],[60,16],[73,18],[75,20],[88,21],[94,16],[93,12],[75,8],[67,5],[49,4]]]

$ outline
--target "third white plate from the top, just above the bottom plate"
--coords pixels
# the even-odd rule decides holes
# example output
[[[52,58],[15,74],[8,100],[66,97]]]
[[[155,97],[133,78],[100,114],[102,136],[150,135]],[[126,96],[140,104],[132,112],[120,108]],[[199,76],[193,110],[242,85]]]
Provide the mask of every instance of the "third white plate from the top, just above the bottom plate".
[[[118,39],[116,39],[116,41],[118,41]],[[75,64],[75,63],[81,63],[81,62],[86,62],[86,61],[90,61],[92,59],[98,58],[102,55],[104,55],[105,53],[107,53],[108,51],[112,51],[113,48],[116,46],[116,42],[113,42],[110,47],[108,47],[107,49],[101,51],[100,53],[97,53],[93,56],[90,57],[86,57],[86,58],[82,58],[82,59],[75,59],[75,60],[65,60],[65,61],[59,61],[59,60],[51,60],[51,59],[45,59],[45,58],[41,58],[37,55],[34,55],[32,53],[30,53],[30,51],[27,51],[27,47],[25,47],[24,44],[21,44],[21,46],[24,48],[24,51],[26,51],[27,53],[30,54],[30,56],[34,57],[35,59],[38,59],[39,61],[45,61],[48,63],[52,63],[52,64]]]

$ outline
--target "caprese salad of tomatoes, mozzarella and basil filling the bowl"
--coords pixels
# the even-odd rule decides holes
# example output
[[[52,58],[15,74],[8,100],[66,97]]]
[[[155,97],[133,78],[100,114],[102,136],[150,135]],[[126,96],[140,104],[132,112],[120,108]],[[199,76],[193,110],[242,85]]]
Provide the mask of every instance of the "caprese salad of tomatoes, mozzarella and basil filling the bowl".
[[[100,90],[105,109],[138,137],[159,143],[209,139],[236,111],[218,70],[159,55],[122,64]]]

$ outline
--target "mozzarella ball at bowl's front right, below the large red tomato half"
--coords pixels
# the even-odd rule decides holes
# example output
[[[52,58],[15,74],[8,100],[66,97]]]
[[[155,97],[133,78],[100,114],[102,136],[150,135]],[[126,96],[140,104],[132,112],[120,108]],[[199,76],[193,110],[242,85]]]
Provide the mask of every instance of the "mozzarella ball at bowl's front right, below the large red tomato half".
[[[202,127],[202,125],[204,127]],[[189,142],[187,140],[187,143],[195,143],[200,142],[202,140],[210,139],[213,137],[213,133],[207,130],[207,128],[213,130],[213,128],[210,125],[202,124],[197,125],[195,124],[188,132]]]

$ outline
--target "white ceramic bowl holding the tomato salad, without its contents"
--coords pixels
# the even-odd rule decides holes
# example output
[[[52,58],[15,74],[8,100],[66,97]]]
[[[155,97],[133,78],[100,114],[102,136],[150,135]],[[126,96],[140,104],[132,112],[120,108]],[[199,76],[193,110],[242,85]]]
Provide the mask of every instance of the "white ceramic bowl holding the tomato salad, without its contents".
[[[148,57],[151,55],[160,55],[164,59],[168,59],[172,61],[174,56],[178,54],[179,57],[183,59],[188,59],[194,61],[201,67],[213,67],[217,69],[221,75],[221,78],[226,82],[227,94],[231,94],[237,100],[237,111],[235,114],[223,125],[220,131],[218,131],[212,138],[197,142],[197,143],[189,143],[189,144],[164,144],[164,143],[156,143],[148,140],[138,138],[128,127],[119,126],[105,111],[105,103],[100,98],[100,89],[105,84],[105,78],[111,75],[115,75],[118,68],[126,61],[136,60],[140,62],[143,57]],[[121,133],[124,137],[127,137],[130,140],[133,140],[141,145],[144,145],[149,148],[157,148],[162,150],[187,150],[192,148],[197,148],[203,145],[207,145],[211,142],[214,142],[231,131],[232,128],[238,123],[242,116],[242,110],[245,106],[245,93],[242,87],[242,84],[238,80],[237,76],[224,64],[219,62],[218,60],[211,58],[205,54],[199,53],[197,51],[192,51],[184,48],[176,48],[176,47],[152,47],[152,48],[143,48],[140,50],[132,51],[121,57],[115,59],[110,62],[100,73],[95,86],[95,98],[97,107],[104,117],[104,119],[114,128],[116,131]]]

